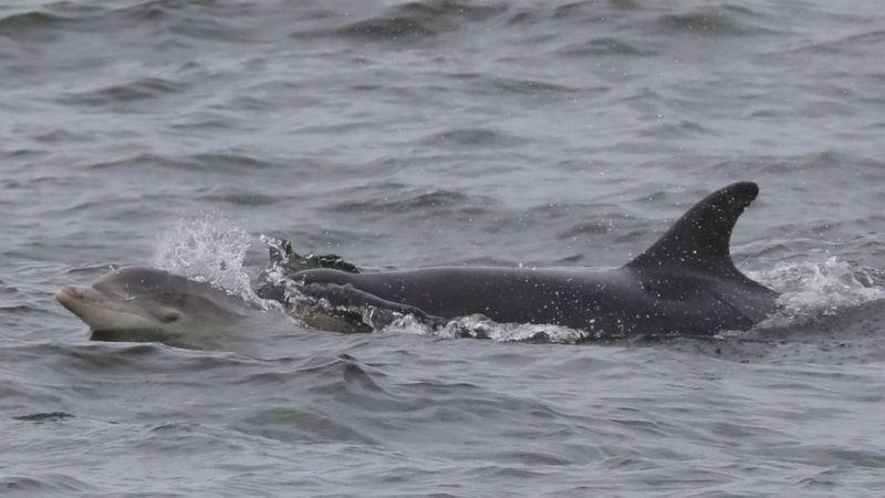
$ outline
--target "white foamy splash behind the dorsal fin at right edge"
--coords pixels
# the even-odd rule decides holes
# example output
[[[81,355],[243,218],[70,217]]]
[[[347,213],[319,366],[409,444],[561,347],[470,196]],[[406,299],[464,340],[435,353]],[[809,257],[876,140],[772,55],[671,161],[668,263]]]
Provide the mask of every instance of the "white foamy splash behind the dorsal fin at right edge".
[[[833,315],[885,299],[883,279],[874,270],[832,257],[824,262],[781,264],[772,270],[749,272],[754,280],[781,293],[782,308],[759,326],[785,326],[821,315]]]

